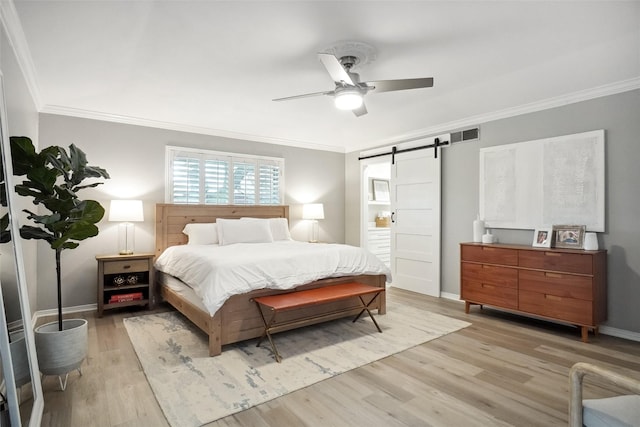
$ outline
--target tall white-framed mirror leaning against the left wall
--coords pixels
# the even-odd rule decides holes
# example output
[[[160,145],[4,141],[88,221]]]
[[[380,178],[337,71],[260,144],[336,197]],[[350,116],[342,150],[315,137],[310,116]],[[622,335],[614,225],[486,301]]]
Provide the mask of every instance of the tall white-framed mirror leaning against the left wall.
[[[0,280],[0,356],[2,357],[2,378],[6,388],[4,397],[7,402],[3,405],[0,423],[5,425],[8,410],[10,425],[39,426],[44,408],[44,396],[31,324],[22,239],[19,237],[19,210],[16,206],[4,94],[4,78],[0,73],[0,152],[1,169],[4,172],[0,178],[4,183],[7,205],[6,209],[3,208],[3,212],[0,213],[0,218],[3,218],[0,220],[0,225],[3,226],[0,231],[3,232],[2,241],[6,241],[9,237],[5,229],[11,237],[10,241],[0,245],[0,251],[3,258],[12,257],[8,262],[3,260],[5,261],[3,264],[14,266],[13,272],[2,272],[2,278],[13,278],[13,280]],[[3,193],[3,202],[4,196]],[[5,214],[7,214],[6,217]]]

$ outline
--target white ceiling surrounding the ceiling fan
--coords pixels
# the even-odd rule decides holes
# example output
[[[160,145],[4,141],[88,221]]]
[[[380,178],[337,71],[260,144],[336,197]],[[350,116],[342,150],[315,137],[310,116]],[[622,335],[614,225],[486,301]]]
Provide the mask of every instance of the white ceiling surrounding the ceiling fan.
[[[638,1],[14,5],[43,112],[339,152],[640,81]],[[360,118],[330,97],[271,101],[332,90],[316,53],[341,40],[376,48],[363,80],[434,87],[370,93]]]

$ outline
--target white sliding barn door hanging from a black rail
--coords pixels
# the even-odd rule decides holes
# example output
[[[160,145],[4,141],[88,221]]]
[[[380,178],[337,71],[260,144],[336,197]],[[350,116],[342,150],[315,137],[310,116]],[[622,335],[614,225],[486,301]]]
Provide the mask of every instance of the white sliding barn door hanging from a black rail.
[[[390,181],[392,285],[439,297],[440,158],[433,149],[396,154]]]

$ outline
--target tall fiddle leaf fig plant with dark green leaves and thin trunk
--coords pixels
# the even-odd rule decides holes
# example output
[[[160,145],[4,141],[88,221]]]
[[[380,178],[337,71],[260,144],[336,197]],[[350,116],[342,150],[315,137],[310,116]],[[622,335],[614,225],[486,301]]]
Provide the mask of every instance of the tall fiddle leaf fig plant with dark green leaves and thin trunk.
[[[69,152],[58,146],[39,153],[28,137],[11,137],[13,173],[26,176],[15,186],[16,193],[32,198],[39,212],[24,209],[35,225],[20,227],[24,239],[45,240],[55,251],[58,286],[58,328],[62,330],[62,284],[60,256],[64,249],[75,249],[79,242],[97,236],[96,224],[104,216],[104,208],[95,200],[81,200],[78,191],[96,187],[102,182],[85,183],[91,178],[109,178],[106,170],[89,166],[85,153],[74,144]]]

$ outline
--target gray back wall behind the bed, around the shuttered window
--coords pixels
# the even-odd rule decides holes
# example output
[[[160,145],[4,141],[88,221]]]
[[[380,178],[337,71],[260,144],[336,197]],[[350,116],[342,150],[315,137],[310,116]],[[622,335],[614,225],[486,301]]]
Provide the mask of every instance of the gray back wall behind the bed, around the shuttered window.
[[[88,189],[82,198],[94,198],[109,208],[111,199],[141,199],[145,222],[136,224],[136,252],[154,250],[154,205],[164,203],[165,146],[204,148],[216,151],[282,157],[285,159],[285,204],[291,206],[292,236],[308,238],[307,223],[300,220],[301,204],[322,202],[325,220],[320,220],[320,239],[344,241],[344,155],[325,151],[284,147],[143,126],[52,114],[40,115],[40,145],[67,147],[75,143],[92,165],[111,175],[104,185]],[[99,224],[100,234],[62,254],[65,307],[96,302],[95,255],[114,253],[117,224]],[[55,302],[54,253],[38,245],[38,309]]]

